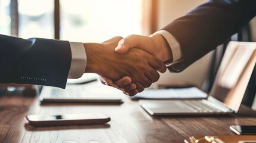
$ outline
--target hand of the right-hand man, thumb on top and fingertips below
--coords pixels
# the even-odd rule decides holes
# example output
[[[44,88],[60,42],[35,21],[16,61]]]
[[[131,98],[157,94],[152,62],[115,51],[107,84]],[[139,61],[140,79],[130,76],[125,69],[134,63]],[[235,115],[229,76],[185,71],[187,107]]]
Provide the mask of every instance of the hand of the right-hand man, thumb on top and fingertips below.
[[[115,51],[122,54],[128,51],[129,48],[140,48],[149,54],[155,55],[162,61],[171,61],[172,60],[172,52],[169,47],[168,42],[159,34],[151,35],[151,36],[140,36],[140,35],[129,35],[127,38],[119,41],[118,46],[115,48]],[[122,77],[122,79],[113,81],[107,77],[100,77],[101,82],[107,83],[109,86],[113,86],[122,90],[125,94],[129,96],[133,96],[138,92],[144,90],[144,87],[138,83],[127,82],[129,77]],[[127,84],[125,84],[125,82]],[[137,89],[135,89],[137,88]]]

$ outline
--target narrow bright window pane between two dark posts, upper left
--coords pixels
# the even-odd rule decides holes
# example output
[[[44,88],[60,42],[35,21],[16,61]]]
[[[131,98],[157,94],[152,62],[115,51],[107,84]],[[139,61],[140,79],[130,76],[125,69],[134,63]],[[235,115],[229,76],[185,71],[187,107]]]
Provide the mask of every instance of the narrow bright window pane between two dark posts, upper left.
[[[54,38],[54,0],[18,0],[18,36]]]

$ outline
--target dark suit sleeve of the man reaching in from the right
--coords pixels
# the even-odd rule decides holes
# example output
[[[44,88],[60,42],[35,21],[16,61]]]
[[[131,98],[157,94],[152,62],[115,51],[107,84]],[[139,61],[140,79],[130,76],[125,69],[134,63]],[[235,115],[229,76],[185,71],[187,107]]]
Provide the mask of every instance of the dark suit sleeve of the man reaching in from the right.
[[[225,42],[256,14],[255,0],[209,1],[164,27],[180,43],[184,60],[169,70],[181,71]]]

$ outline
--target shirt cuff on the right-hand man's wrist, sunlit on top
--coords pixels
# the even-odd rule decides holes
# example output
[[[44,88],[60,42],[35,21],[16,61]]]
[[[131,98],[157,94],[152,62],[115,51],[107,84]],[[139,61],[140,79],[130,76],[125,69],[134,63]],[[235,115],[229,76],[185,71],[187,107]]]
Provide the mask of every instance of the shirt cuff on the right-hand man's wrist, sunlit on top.
[[[171,33],[169,33],[166,30],[159,30],[155,33],[158,33],[164,36],[166,41],[169,43],[169,46],[171,47],[171,51],[172,51],[172,58],[173,58],[172,64],[177,63],[178,61],[181,61],[183,59],[183,54],[180,48],[180,43],[178,43],[178,41],[174,38],[174,36],[172,36]]]

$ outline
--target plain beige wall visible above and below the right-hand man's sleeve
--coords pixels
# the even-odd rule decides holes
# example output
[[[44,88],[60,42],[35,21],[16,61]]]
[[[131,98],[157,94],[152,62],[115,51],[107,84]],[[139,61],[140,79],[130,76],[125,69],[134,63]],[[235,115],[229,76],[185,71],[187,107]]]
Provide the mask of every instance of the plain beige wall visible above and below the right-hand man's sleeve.
[[[175,18],[181,17],[188,13],[196,6],[203,4],[205,0],[159,0],[158,5],[158,29],[161,29],[166,24],[175,20]],[[208,73],[208,65],[211,60],[211,54],[196,61],[192,66],[188,67],[181,73],[166,73],[161,74],[161,77],[157,84],[169,84],[186,82],[201,88],[203,81]]]

